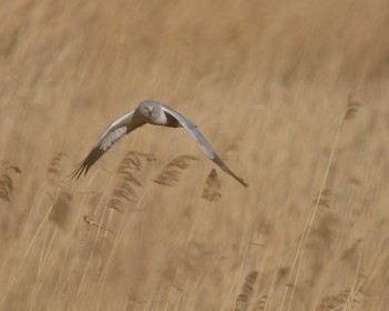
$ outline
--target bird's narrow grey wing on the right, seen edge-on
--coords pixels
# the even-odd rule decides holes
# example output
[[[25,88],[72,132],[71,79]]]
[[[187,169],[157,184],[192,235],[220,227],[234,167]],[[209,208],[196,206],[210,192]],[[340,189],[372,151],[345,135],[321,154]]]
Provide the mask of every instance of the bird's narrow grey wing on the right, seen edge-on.
[[[186,117],[183,117],[181,113],[177,112],[176,110],[171,109],[170,107],[162,104],[162,110],[180,122],[180,124],[189,132],[189,134],[196,139],[196,141],[200,144],[200,148],[202,151],[207,154],[209,159],[211,159],[215,163],[217,163],[220,169],[222,169],[225,172],[229,173],[231,177],[233,177],[237,181],[239,181],[242,185],[248,187],[248,184],[245,182],[243,179],[236,175],[228,167],[227,164],[219,158],[219,156],[213,150],[212,146],[206,140],[206,138],[201,134],[201,132],[197,129],[197,127],[189,121]]]

